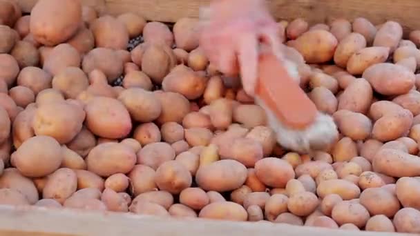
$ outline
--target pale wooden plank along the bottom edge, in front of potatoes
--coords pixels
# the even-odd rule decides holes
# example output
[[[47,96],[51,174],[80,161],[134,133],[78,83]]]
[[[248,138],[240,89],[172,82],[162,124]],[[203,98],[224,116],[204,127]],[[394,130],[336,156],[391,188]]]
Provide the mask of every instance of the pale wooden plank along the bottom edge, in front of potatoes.
[[[175,219],[128,213],[0,206],[0,235],[156,235],[156,236],[408,236],[404,233],[332,230],[287,224]]]

